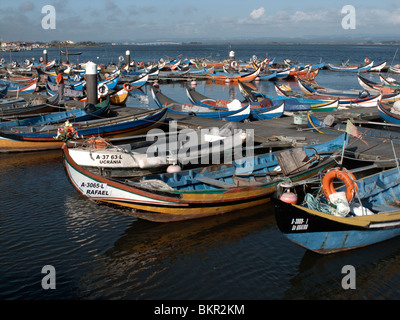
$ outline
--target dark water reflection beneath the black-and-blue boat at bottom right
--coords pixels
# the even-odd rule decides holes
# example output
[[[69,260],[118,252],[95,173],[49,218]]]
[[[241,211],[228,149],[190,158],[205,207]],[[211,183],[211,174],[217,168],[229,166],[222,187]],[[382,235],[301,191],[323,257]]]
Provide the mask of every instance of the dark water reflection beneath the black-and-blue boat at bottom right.
[[[339,255],[319,255],[306,251],[294,268],[290,286],[282,299],[396,299],[400,274],[399,238],[347,251]],[[371,263],[371,257],[374,257]],[[356,267],[356,289],[344,290],[341,281],[348,275],[344,266]],[[380,276],[377,276],[377,275]]]

